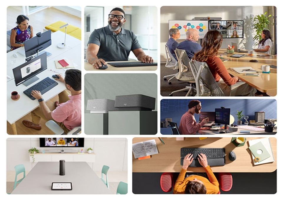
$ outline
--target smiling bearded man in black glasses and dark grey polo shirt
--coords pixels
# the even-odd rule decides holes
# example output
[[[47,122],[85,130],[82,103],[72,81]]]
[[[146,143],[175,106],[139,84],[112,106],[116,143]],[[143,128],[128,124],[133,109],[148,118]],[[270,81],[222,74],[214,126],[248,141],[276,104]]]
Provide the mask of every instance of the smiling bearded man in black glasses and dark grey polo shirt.
[[[139,61],[152,63],[152,57],[146,55],[139,45],[136,35],[122,26],[126,22],[125,12],[114,8],[108,15],[108,26],[96,29],[88,41],[86,58],[94,68],[99,69],[105,61],[128,61],[132,51]]]

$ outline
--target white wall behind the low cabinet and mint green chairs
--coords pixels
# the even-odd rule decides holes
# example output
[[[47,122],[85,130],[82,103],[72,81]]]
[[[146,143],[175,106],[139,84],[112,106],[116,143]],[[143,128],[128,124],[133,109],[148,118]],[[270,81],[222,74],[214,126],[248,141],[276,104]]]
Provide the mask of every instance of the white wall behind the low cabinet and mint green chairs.
[[[36,163],[29,162],[28,150],[37,148],[40,153],[42,149],[52,150],[55,148],[41,148],[39,138],[8,138],[7,139],[7,169],[14,171],[14,167],[23,164],[26,171],[30,171]],[[127,139],[126,138],[85,138],[83,152],[92,148],[96,153],[95,163],[88,163],[94,171],[101,171],[103,165],[110,167],[109,171],[127,171]],[[82,148],[68,148],[81,150]]]

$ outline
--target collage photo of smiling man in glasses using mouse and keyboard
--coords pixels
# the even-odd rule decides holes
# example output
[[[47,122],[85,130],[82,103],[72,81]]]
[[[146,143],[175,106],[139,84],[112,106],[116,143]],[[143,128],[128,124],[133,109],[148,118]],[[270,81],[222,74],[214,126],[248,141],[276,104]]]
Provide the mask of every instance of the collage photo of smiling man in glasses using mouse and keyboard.
[[[155,71],[156,6],[86,6],[85,70]]]

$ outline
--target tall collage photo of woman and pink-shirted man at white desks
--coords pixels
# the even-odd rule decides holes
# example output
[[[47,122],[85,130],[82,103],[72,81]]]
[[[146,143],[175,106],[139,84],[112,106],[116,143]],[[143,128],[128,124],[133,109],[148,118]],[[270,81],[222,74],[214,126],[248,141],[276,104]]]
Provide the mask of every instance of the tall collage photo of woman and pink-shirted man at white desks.
[[[9,6],[7,16],[7,133],[78,134],[80,7]]]

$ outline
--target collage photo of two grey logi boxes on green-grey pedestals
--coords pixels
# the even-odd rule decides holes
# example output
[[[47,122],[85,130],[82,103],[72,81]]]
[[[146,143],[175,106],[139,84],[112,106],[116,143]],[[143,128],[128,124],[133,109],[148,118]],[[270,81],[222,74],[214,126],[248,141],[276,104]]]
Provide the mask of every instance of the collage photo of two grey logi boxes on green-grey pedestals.
[[[85,134],[155,135],[157,75],[85,74]]]

